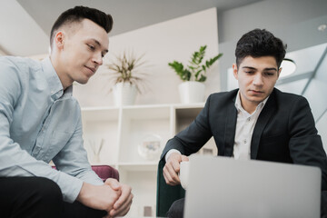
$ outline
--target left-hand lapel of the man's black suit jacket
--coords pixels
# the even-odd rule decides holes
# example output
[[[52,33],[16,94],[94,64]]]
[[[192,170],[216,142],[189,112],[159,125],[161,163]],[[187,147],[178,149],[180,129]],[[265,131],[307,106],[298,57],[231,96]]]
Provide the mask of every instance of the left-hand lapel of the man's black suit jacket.
[[[235,141],[235,130],[237,120],[237,109],[235,107],[235,98],[233,98],[233,104],[229,104],[227,107],[227,117],[225,124],[225,138],[224,138],[224,156],[233,155],[233,144]]]

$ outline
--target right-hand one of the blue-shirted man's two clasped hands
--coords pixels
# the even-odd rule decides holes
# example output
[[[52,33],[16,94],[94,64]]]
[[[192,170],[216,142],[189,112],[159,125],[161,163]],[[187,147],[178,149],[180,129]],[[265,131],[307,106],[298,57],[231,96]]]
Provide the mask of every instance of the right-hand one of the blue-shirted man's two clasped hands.
[[[134,197],[133,193],[131,193],[132,188],[127,184],[119,183],[115,179],[107,179],[104,184],[109,185],[114,191],[121,192],[118,200],[114,203],[114,208],[106,217],[124,216],[131,208]]]

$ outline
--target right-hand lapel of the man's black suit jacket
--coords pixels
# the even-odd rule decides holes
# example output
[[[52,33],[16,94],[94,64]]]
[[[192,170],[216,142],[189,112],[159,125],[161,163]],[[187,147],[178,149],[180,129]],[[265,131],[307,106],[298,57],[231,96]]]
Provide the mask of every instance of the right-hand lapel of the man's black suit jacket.
[[[268,121],[272,117],[272,114],[275,113],[276,108],[277,105],[275,99],[275,92],[273,90],[267,103],[263,107],[263,111],[260,113],[258,117],[257,123],[254,126],[252,142],[251,142],[251,159],[257,158],[260,139],[263,134],[263,129],[265,125],[268,124]]]

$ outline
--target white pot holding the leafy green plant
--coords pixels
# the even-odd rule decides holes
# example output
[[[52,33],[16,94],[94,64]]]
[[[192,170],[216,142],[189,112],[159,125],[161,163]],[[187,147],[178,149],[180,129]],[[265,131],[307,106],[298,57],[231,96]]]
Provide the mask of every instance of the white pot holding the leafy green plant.
[[[183,104],[203,103],[205,85],[200,82],[183,82],[178,85]]]

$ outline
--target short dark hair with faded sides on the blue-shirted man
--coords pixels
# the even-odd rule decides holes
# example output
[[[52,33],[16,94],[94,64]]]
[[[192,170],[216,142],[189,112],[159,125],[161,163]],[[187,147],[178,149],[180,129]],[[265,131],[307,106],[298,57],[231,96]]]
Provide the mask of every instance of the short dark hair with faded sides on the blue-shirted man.
[[[55,31],[57,29],[63,25],[72,24],[74,22],[79,23],[83,19],[89,19],[95,24],[100,25],[108,34],[112,30],[114,24],[112,15],[106,15],[104,12],[95,8],[75,6],[74,8],[64,11],[54,22],[50,33],[50,45],[53,43]]]

